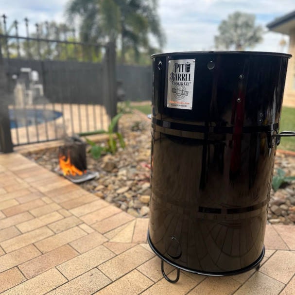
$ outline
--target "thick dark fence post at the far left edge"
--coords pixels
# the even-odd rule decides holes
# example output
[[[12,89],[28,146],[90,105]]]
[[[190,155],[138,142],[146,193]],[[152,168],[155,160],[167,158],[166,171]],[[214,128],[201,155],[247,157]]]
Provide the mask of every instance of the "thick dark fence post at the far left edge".
[[[5,70],[2,59],[0,43],[0,151],[3,153],[13,152],[11,139],[9,109],[8,109],[8,89]]]

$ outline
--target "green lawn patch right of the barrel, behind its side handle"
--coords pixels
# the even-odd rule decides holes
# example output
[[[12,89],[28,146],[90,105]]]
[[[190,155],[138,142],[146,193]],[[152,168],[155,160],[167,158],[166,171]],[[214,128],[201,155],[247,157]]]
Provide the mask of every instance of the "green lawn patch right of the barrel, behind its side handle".
[[[283,107],[279,131],[295,131],[295,108]],[[281,150],[295,151],[295,137],[282,137],[278,148]]]

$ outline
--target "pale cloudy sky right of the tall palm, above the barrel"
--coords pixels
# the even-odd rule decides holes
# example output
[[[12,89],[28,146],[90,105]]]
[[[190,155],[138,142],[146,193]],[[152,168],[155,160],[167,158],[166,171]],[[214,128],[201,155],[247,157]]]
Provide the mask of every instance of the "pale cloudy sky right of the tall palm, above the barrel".
[[[255,14],[256,23],[265,27],[294,9],[294,0],[160,0],[159,4],[167,35],[165,52],[212,50],[219,23],[235,11]],[[263,37],[264,41],[253,50],[281,50],[280,34],[268,33]]]

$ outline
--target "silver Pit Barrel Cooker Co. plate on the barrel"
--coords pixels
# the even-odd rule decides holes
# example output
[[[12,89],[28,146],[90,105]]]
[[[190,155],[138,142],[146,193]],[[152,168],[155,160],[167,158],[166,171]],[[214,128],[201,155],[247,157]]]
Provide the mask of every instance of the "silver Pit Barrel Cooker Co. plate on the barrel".
[[[195,59],[171,59],[168,62],[167,107],[192,109]]]

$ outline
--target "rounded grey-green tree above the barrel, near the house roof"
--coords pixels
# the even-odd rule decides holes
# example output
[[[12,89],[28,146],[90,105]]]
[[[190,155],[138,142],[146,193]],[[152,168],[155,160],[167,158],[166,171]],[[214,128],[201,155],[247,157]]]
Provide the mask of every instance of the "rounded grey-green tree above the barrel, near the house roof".
[[[263,29],[255,25],[255,15],[235,12],[223,20],[214,36],[216,48],[245,50],[262,41]]]

